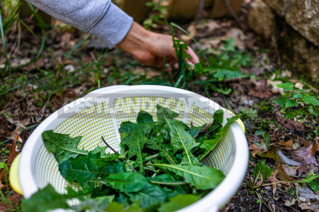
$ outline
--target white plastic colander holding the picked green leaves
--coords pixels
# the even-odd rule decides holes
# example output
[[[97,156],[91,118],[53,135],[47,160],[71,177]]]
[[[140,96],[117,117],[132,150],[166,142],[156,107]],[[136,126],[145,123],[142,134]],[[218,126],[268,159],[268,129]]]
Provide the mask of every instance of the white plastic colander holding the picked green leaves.
[[[19,159],[19,184],[23,196],[28,199],[39,188],[51,184],[57,192],[65,193],[70,185],[60,174],[54,156],[43,145],[42,133],[53,129],[56,133],[82,136],[78,148],[92,150],[104,146],[103,136],[109,145],[119,150],[119,127],[124,121],[136,122],[140,110],[149,112],[154,121],[156,104],[177,112],[177,119],[190,126],[209,123],[214,112],[223,109],[224,122],[231,115],[217,103],[201,95],[174,87],[137,85],[111,86],[97,89],[88,95],[70,102],[46,118],[29,136]],[[107,152],[110,151],[108,148]],[[248,145],[241,127],[234,122],[218,146],[204,159],[204,165],[221,170],[225,179],[211,193],[192,205],[179,210],[218,211],[237,191],[248,166]],[[73,199],[69,204],[77,204]],[[63,210],[61,210],[63,211]]]

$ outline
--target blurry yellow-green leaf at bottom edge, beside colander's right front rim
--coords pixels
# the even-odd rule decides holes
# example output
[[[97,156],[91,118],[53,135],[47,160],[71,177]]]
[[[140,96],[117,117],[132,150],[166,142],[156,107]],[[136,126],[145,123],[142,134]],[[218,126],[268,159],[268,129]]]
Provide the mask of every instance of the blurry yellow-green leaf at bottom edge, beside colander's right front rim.
[[[198,201],[199,197],[194,194],[183,194],[169,199],[169,202],[164,203],[158,209],[159,212],[174,212],[185,208],[194,202]]]

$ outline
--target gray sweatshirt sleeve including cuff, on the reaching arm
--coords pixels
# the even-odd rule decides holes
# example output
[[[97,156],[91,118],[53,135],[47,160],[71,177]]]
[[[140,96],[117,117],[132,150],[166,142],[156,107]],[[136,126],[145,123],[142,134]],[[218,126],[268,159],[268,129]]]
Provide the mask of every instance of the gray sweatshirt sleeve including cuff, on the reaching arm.
[[[114,48],[129,32],[133,18],[111,0],[27,0],[40,10]]]

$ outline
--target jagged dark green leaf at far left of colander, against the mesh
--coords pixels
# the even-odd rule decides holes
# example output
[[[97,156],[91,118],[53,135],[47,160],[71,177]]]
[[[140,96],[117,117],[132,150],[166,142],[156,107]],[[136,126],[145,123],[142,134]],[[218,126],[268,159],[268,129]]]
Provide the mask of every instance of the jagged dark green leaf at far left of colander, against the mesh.
[[[81,141],[82,136],[71,138],[70,135],[54,133],[53,130],[44,131],[42,133],[42,139],[44,146],[48,151],[52,152],[56,158],[56,161],[60,164],[63,161],[68,160],[71,157],[77,157],[78,155],[87,155],[88,152],[83,148],[78,149],[78,143]],[[105,153],[105,147],[97,146],[92,150],[93,153],[100,152],[101,157],[108,156]]]

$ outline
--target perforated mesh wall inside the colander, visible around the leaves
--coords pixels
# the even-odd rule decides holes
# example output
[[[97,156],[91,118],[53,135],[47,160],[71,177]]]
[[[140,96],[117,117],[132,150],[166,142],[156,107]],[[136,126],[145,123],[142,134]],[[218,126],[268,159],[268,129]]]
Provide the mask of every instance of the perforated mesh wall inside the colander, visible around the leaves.
[[[105,144],[102,142],[101,136],[113,148],[117,149],[120,143],[118,128],[121,123],[124,121],[136,122],[137,114],[140,110],[149,112],[153,116],[154,121],[157,121],[156,104],[168,107],[179,113],[180,116],[177,119],[183,120],[189,126],[190,121],[192,121],[194,126],[201,126],[212,120],[212,114],[196,105],[190,105],[186,110],[186,104],[180,100],[161,96],[130,96],[117,98],[113,102],[114,114],[110,113],[111,110],[108,103],[102,102],[74,114],[58,125],[54,131],[56,133],[70,134],[71,137],[82,136],[82,140],[78,145],[79,149],[84,148],[90,151],[97,145],[104,146]],[[184,111],[188,111],[188,113],[184,114]],[[184,116],[186,120],[183,119]],[[109,151],[109,149],[106,150],[106,152]],[[227,174],[233,163],[233,151],[233,142],[230,140],[229,135],[226,134],[214,151],[204,159],[203,163],[204,165],[222,170],[224,174]],[[68,185],[70,186],[70,183],[61,176],[54,156],[48,153],[44,146],[41,147],[37,155],[35,175],[36,183],[40,188],[45,187],[49,183],[57,192],[65,193],[65,188]],[[71,186],[74,189],[79,189],[76,183],[73,183]],[[75,205],[79,201],[72,199],[68,203]]]

